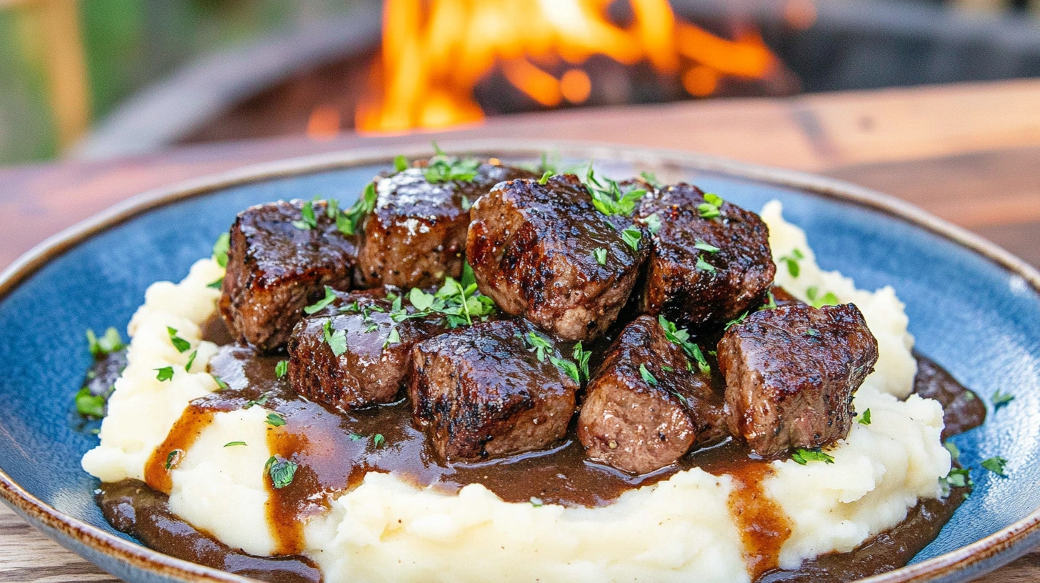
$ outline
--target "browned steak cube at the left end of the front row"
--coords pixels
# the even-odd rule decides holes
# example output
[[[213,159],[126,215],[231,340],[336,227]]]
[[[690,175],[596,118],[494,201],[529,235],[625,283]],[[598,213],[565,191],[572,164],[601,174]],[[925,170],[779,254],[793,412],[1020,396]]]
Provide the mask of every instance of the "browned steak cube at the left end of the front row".
[[[373,292],[337,294],[296,325],[289,338],[296,392],[343,410],[397,400],[412,347],[447,328],[438,314],[405,319],[416,312],[407,298]]]

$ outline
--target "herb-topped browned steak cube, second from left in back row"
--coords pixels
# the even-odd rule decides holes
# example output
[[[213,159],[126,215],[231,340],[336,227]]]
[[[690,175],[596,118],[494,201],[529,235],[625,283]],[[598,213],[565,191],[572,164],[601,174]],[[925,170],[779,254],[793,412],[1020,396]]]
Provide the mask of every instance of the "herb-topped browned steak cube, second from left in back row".
[[[358,250],[361,287],[428,287],[462,274],[469,205],[502,180],[532,176],[517,168],[470,163],[470,180],[440,181],[442,175],[430,174],[430,167],[375,179],[375,207],[363,220]]]

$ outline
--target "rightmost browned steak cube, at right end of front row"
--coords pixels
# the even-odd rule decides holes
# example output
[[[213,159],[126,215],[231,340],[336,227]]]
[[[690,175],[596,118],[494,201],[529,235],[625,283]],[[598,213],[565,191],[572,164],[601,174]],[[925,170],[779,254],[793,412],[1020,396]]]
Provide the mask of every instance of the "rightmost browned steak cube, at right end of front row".
[[[841,439],[856,416],[853,392],[877,360],[853,304],[752,313],[719,343],[729,430],[762,456]]]

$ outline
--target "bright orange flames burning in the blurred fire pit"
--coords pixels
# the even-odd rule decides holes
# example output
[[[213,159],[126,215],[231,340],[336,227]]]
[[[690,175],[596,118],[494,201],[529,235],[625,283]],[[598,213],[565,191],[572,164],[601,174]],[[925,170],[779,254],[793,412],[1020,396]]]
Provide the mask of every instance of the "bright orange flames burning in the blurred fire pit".
[[[406,131],[484,118],[477,83],[500,68],[545,107],[582,103],[593,79],[582,68],[605,55],[678,75],[694,96],[726,76],[761,79],[777,59],[755,32],[727,40],[677,19],[667,0],[629,0],[627,26],[610,0],[386,0],[383,50],[356,111],[359,131]],[[554,72],[561,72],[554,74]]]

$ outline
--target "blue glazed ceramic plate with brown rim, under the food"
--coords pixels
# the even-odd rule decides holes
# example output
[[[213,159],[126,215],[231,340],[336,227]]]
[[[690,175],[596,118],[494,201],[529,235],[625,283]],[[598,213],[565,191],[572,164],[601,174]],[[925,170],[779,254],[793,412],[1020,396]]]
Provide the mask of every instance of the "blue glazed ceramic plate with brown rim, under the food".
[[[821,265],[895,287],[925,355],[984,397],[1016,399],[958,436],[962,461],[1000,455],[1007,478],[977,489],[912,564],[872,581],[965,581],[1040,542],[1040,274],[995,246],[884,195],[823,178],[675,152],[566,144],[459,143],[449,151],[595,158],[617,177],[652,171],[751,209],[771,199],[806,230]],[[179,280],[249,205],[354,200],[395,154],[355,151],[264,164],[146,193],[57,235],[0,276],[0,497],[61,544],[130,581],[244,581],[173,559],[110,528],[79,466],[97,442],[72,408],[90,357],[83,332],[125,329],[156,280]]]

